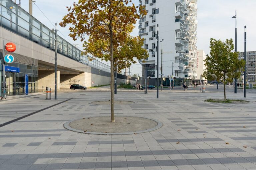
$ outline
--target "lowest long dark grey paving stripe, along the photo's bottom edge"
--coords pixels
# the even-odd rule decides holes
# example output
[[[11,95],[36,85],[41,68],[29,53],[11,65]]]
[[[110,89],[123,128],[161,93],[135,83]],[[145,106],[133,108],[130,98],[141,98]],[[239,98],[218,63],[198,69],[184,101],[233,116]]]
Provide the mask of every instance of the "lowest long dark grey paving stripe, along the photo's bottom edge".
[[[253,160],[254,159],[254,160]],[[97,169],[97,168],[129,168],[129,167],[160,167],[182,165],[210,165],[210,164],[237,164],[254,163],[256,157],[232,157],[232,158],[202,158],[202,159],[168,159],[150,161],[118,161],[118,162],[81,162],[81,163],[54,163],[33,164],[30,169]]]

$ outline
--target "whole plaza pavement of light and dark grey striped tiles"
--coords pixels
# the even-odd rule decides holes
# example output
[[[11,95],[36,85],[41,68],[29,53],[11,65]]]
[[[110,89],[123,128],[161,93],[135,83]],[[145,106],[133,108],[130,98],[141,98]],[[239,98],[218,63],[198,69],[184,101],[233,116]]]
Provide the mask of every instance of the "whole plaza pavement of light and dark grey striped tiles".
[[[239,96],[228,93],[228,98]],[[63,128],[69,120],[110,114],[110,106],[89,104],[109,100],[109,92],[60,92],[58,101],[37,97],[1,101],[0,113],[9,115],[2,109],[7,104],[13,106],[11,114],[23,115],[72,99],[0,128],[0,170],[256,169],[254,93],[247,94],[250,104],[214,104],[202,100],[222,98],[222,93],[164,91],[157,100],[153,91],[118,92],[116,100],[135,103],[116,106],[116,115],[153,118],[164,125],[152,132],[118,136]]]

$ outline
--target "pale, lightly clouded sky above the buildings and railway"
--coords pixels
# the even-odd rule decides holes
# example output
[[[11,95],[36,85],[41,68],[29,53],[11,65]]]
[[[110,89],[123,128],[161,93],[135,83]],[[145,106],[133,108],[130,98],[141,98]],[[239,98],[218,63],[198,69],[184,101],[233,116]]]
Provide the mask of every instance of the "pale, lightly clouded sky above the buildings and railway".
[[[16,0],[18,2],[18,0]],[[21,7],[28,11],[28,0],[21,0]],[[36,0],[36,5],[43,11],[46,17],[55,25],[60,23],[63,16],[67,14],[66,6],[72,6],[78,0]],[[133,1],[138,5],[139,0]],[[33,16],[52,29],[54,26],[41,13],[37,6],[33,3]],[[247,26],[247,51],[255,51],[256,28],[255,19],[256,0],[198,0],[198,26],[197,26],[197,47],[203,49],[209,54],[210,38],[225,41],[232,38],[235,40],[235,15],[237,10],[237,50],[244,51],[244,26]],[[138,36],[139,23],[132,32],[133,36]],[[78,44],[82,49],[82,42],[79,40],[74,42],[70,38],[68,27],[58,27],[59,35],[68,40],[72,44]],[[106,62],[105,62],[106,63]],[[133,64],[131,67],[133,74],[141,74],[142,66],[139,63]]]

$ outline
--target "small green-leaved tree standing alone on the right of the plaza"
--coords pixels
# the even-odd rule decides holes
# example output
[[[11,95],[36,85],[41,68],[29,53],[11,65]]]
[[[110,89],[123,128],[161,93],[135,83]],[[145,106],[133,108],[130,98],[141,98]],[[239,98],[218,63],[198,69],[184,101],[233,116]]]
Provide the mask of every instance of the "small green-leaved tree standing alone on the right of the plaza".
[[[232,82],[233,78],[239,78],[244,69],[245,61],[238,59],[238,52],[234,49],[233,40],[210,40],[210,55],[206,55],[206,69],[203,77],[208,80],[221,81],[224,84],[224,100],[226,101],[226,84]]]

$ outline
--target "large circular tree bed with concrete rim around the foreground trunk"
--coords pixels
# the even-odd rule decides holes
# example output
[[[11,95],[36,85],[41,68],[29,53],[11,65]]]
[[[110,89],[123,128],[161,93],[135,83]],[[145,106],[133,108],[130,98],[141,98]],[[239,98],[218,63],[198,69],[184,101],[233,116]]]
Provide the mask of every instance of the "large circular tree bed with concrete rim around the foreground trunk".
[[[96,116],[66,122],[64,128],[86,134],[124,135],[145,133],[162,127],[162,123],[151,118],[133,116],[115,116],[111,123],[110,116]]]

